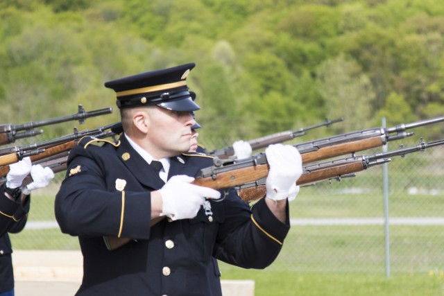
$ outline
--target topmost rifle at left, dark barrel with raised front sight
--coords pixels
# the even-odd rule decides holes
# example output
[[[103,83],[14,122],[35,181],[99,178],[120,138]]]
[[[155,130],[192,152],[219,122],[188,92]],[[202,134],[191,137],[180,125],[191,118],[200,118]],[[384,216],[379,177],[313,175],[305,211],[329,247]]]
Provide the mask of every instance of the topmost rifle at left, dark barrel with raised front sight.
[[[2,124],[0,125],[0,145],[14,143],[16,139],[23,139],[26,137],[33,137],[37,134],[42,134],[43,130],[34,130],[44,125],[51,125],[66,121],[78,121],[80,124],[85,122],[85,119],[93,116],[112,113],[112,108],[103,108],[92,111],[85,111],[82,105],[78,105],[78,112],[76,114],[62,116],[54,119],[44,121],[33,121],[19,125]]]

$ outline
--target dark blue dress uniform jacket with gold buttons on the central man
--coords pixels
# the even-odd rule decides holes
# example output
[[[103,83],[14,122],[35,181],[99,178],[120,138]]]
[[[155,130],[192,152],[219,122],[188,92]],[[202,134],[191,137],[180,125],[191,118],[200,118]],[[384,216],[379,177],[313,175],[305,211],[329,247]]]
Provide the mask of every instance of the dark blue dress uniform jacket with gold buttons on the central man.
[[[266,268],[278,256],[289,221],[277,220],[264,201],[250,209],[234,189],[196,218],[150,227],[150,191],[164,182],[126,137],[120,140],[100,146],[85,139],[74,147],[56,195],[60,228],[78,236],[83,253],[76,295],[221,295],[216,259]],[[171,157],[169,177],[196,177],[208,166],[212,158],[205,155]],[[134,241],[108,251],[103,236]]]

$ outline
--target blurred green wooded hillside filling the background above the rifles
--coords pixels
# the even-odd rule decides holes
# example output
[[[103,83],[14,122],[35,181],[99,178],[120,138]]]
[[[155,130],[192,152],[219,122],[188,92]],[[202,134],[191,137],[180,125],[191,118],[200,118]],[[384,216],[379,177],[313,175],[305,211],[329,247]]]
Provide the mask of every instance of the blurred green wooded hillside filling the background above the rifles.
[[[114,107],[103,82],[187,62],[204,142],[325,117],[344,117],[324,130],[334,134],[444,112],[441,0],[3,0],[0,19],[3,123]],[[85,128],[117,120],[114,107]]]

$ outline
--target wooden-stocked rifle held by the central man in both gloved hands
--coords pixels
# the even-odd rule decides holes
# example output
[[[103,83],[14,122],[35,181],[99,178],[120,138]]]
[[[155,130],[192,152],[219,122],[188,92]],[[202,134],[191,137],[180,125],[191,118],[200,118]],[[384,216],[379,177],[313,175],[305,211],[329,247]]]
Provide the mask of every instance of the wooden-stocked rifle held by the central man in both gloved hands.
[[[370,128],[367,130],[359,130],[349,132],[347,134],[339,134],[325,139],[309,141],[294,145],[298,148],[302,157],[302,163],[315,162],[317,160],[328,159],[348,153],[355,154],[357,151],[368,150],[385,145],[388,141],[404,139],[410,137],[414,133],[407,132],[412,128],[418,128],[424,125],[430,125],[444,121],[444,116],[434,119],[426,119],[413,123],[396,125],[393,128]],[[238,187],[244,184],[264,179],[268,175],[268,164],[264,153],[246,159],[220,159],[214,157],[214,166],[204,168],[200,172],[200,177],[194,180],[193,184],[199,186],[207,186],[212,189],[225,189],[228,187]],[[341,175],[355,173],[354,171],[341,172]],[[314,176],[314,175],[311,175]],[[302,177],[302,176],[301,176]],[[332,177],[338,175],[332,175]],[[327,180],[328,177],[324,177]],[[301,179],[300,179],[301,180]],[[303,180],[303,178],[302,178]],[[301,180],[301,182],[302,182]],[[313,179],[311,182],[319,180]],[[257,199],[259,193],[252,193]],[[245,194],[246,195],[246,194]],[[244,196],[245,196],[244,195]],[[262,195],[263,196],[263,195]],[[130,238],[117,238],[112,236],[104,236],[105,245],[108,250],[116,250],[128,243]]]

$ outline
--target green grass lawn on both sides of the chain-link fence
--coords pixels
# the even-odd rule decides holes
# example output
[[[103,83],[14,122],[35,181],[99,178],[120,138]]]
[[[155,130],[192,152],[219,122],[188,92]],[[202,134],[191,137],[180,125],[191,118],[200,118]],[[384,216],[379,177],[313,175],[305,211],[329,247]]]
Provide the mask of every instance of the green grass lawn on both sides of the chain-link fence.
[[[444,172],[414,162],[403,166],[407,159],[388,166],[390,216],[444,218]],[[416,194],[407,194],[411,187]],[[55,220],[54,192],[56,186],[33,196],[30,222]],[[290,213],[294,219],[383,218],[380,167],[302,188]],[[245,270],[220,263],[222,279],[253,279],[255,296],[444,295],[443,228],[390,225],[391,275],[386,277],[384,225],[293,225],[271,266]],[[77,238],[57,227],[27,227],[11,240],[17,250],[78,250]]]

